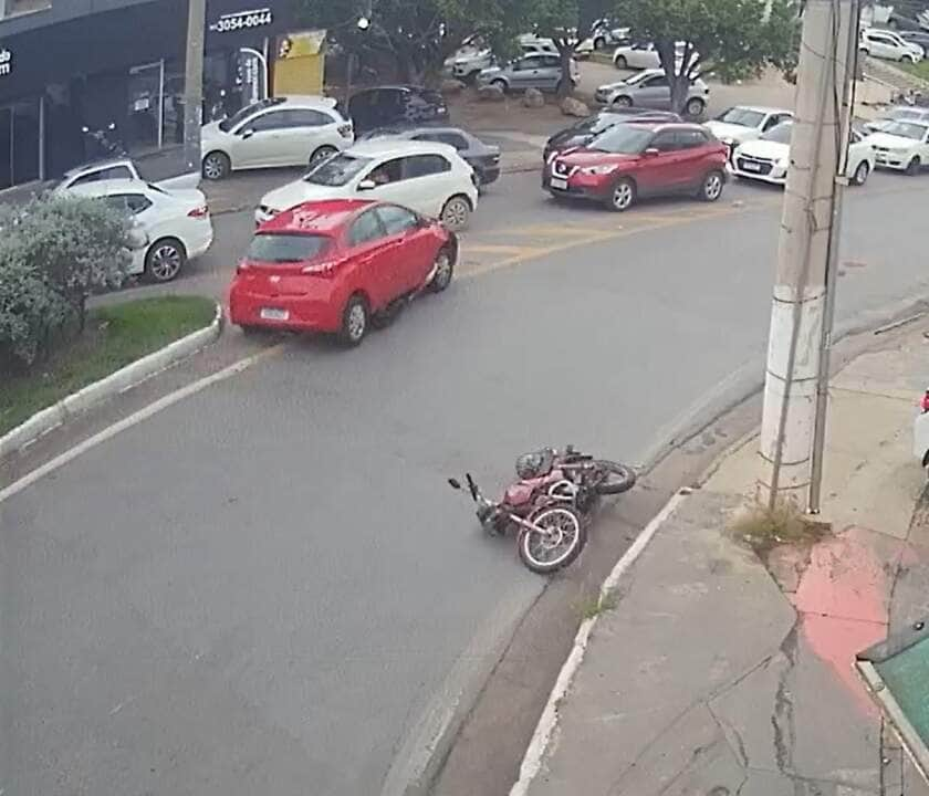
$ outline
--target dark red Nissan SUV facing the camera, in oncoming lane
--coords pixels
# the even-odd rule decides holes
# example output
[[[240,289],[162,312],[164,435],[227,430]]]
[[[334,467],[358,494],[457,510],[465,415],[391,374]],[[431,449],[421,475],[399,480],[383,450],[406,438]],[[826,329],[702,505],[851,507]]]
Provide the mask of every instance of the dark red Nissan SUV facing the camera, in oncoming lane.
[[[716,201],[728,156],[726,145],[700,125],[630,122],[552,156],[542,186],[555,198],[593,199],[617,211],[646,196],[692,193]]]

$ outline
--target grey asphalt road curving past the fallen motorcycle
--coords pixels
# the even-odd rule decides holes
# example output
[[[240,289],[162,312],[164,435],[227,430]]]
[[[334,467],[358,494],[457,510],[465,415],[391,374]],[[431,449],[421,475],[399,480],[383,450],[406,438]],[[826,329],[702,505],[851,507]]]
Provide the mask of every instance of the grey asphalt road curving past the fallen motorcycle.
[[[929,293],[927,198],[929,176],[850,192],[841,321]],[[510,177],[471,277],[359,349],[291,339],[0,503],[0,787],[377,793],[544,584],[445,478],[495,488],[567,441],[637,461],[760,376],[776,202],[617,217]],[[228,279],[247,221],[217,219],[181,289]]]

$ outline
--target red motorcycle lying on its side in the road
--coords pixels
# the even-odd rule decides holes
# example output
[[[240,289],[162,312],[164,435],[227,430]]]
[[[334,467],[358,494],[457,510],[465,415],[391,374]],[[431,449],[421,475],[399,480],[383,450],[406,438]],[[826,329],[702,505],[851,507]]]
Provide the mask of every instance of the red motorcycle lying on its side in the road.
[[[481,526],[501,535],[515,531],[520,558],[540,574],[571,564],[587,542],[586,520],[599,498],[626,492],[636,482],[631,468],[595,460],[570,446],[563,453],[543,448],[521,455],[516,476],[494,502],[484,498],[470,473],[464,475]],[[448,482],[461,489],[457,479]]]

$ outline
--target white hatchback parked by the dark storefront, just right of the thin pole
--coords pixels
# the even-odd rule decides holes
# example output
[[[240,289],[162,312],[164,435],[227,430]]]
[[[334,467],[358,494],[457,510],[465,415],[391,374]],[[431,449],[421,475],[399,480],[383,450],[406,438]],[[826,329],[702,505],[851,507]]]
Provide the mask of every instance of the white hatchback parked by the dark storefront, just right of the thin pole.
[[[215,180],[236,169],[313,165],[352,146],[355,132],[335,100],[288,96],[203,125],[200,140],[203,177]]]

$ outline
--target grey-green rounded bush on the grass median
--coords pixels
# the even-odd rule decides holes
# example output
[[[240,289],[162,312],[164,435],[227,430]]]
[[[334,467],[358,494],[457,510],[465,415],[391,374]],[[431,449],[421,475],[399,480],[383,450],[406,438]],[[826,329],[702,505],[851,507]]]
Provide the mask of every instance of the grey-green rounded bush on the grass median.
[[[0,206],[0,367],[29,366],[83,332],[87,296],[126,279],[129,230],[96,199]]]

